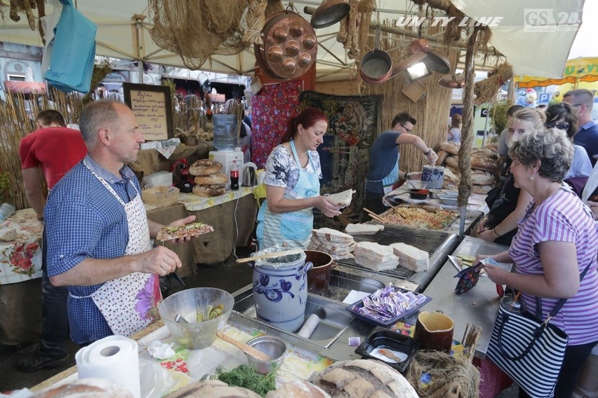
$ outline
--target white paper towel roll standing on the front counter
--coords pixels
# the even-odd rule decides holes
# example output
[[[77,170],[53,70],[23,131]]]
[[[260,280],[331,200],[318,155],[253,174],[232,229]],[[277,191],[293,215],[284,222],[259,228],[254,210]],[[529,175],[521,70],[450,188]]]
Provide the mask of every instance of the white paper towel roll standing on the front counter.
[[[125,336],[108,336],[75,355],[81,378],[105,378],[127,387],[133,397],[141,397],[137,342]]]

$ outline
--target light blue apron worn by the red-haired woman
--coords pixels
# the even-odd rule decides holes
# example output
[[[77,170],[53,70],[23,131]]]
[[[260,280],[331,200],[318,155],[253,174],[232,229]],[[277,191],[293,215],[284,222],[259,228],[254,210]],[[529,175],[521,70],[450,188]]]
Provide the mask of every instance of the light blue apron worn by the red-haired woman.
[[[299,156],[293,141],[291,141],[291,150],[295,162],[299,165],[299,179],[293,191],[284,193],[283,198],[302,199],[319,195],[319,175],[315,170],[310,153],[307,152],[307,158],[312,164],[314,172],[307,172],[307,167],[305,169],[300,167]],[[260,224],[258,224],[257,235],[260,249],[282,245],[283,243],[286,243],[288,247],[302,247],[305,249],[309,245],[312,236],[314,213],[312,207],[309,207],[296,212],[274,214],[268,210],[267,202],[264,201],[262,207],[260,207],[258,221]]]

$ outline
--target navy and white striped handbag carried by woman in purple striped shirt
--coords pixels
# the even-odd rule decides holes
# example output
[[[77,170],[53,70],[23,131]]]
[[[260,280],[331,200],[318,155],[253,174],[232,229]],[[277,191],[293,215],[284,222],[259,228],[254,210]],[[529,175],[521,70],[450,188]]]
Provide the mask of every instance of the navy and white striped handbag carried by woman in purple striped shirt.
[[[589,265],[585,267],[580,281],[589,269]],[[486,356],[532,398],[554,394],[569,336],[548,322],[566,301],[557,301],[545,321],[541,320],[542,304],[538,297],[535,316],[498,308]]]

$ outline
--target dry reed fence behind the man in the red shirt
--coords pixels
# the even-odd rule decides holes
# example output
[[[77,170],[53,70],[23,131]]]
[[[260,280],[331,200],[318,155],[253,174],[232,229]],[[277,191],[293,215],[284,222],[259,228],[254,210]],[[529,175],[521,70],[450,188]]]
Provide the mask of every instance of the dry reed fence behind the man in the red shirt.
[[[11,188],[7,199],[17,210],[30,207],[22,185],[19,143],[35,129],[33,118],[39,111],[55,109],[64,116],[65,123],[77,123],[82,107],[79,94],[66,94],[55,88],[49,88],[48,94],[6,91],[6,103],[0,106],[0,170],[9,174]]]

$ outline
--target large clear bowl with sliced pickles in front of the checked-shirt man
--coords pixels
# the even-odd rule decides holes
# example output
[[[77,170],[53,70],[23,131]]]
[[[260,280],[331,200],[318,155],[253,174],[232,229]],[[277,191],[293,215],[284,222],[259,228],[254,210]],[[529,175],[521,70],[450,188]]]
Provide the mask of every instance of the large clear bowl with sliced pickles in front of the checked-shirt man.
[[[222,303],[222,314],[213,320],[197,322],[197,310],[208,305]],[[230,317],[234,298],[228,291],[213,287],[195,287],[166,297],[158,307],[164,324],[178,343],[187,348],[199,350],[210,346],[217,338],[216,332],[223,327]],[[175,316],[181,315],[189,323],[175,322]]]

